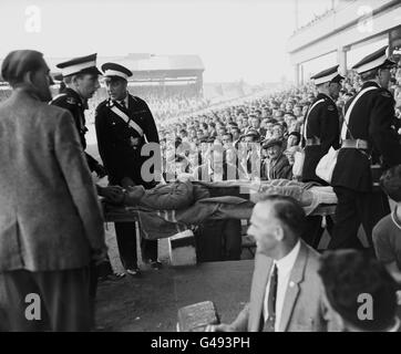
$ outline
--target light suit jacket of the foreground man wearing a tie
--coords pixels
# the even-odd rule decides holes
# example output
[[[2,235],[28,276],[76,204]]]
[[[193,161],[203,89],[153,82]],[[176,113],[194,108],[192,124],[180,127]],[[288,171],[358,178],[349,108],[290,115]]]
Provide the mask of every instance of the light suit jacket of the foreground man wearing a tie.
[[[319,253],[301,241],[282,306],[280,332],[325,332],[330,320],[323,287],[317,273]],[[257,253],[250,290],[250,302],[233,322],[236,331],[258,332],[273,259]],[[335,326],[330,329],[336,329]]]

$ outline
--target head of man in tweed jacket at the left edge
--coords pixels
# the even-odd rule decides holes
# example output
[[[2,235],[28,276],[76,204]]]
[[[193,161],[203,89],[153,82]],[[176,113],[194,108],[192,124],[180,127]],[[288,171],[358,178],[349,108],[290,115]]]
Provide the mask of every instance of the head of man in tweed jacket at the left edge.
[[[48,102],[52,98],[50,85],[53,80],[43,54],[31,50],[10,52],[2,62],[1,76],[12,88],[24,88]]]

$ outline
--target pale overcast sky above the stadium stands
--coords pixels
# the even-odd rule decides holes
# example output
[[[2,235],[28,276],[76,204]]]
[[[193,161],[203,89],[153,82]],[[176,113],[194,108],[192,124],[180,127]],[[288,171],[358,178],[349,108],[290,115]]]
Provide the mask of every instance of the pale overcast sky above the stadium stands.
[[[292,79],[286,53],[295,0],[1,0],[0,58],[35,49],[48,58],[97,52],[198,54],[206,82]],[[331,0],[302,0],[302,24]],[[39,13],[39,21],[37,11]],[[335,64],[335,63],[332,63]]]

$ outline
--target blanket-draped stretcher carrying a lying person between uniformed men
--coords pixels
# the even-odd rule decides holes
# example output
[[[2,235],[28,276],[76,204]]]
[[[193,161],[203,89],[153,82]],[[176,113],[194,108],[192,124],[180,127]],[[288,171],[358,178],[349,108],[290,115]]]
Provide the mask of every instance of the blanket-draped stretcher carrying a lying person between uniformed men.
[[[138,221],[145,239],[168,238],[187,229],[194,229],[207,219],[249,219],[255,202],[264,195],[291,196],[304,207],[308,216],[335,214],[337,197],[331,187],[275,180],[258,184],[249,181],[194,183],[208,190],[208,197],[178,210],[158,210],[143,206],[117,207],[103,204],[106,222]]]

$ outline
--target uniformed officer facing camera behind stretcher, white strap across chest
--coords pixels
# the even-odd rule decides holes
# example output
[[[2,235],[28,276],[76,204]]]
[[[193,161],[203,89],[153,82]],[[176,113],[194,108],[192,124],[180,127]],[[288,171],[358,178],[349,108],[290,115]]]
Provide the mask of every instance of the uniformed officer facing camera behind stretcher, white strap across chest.
[[[109,181],[123,188],[142,185],[155,186],[155,179],[143,175],[143,164],[148,157],[142,156],[142,147],[147,143],[158,146],[158,133],[147,104],[127,91],[127,79],[132,72],[115,63],[102,65],[104,82],[110,98],[96,108],[95,127],[99,152],[109,171]],[[161,153],[154,153],[160,159]],[[136,232],[134,222],[115,222],[115,231],[121,261],[130,275],[140,274],[136,258]],[[150,260],[155,269],[157,240],[142,240],[143,259]]]

